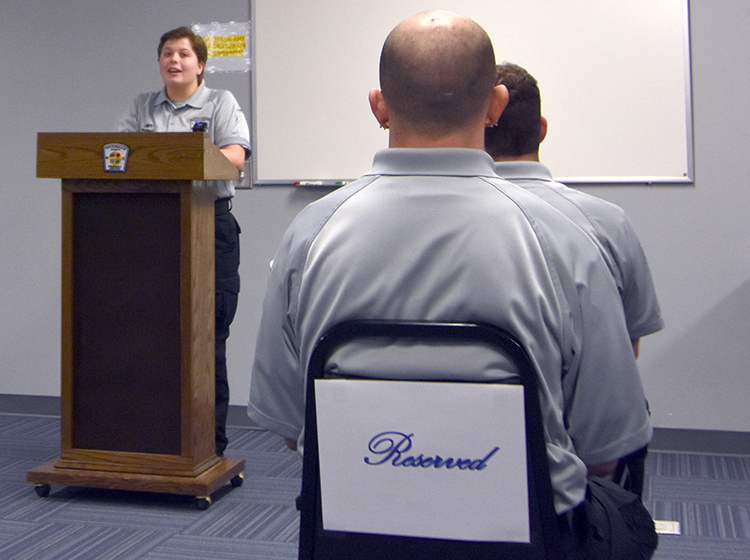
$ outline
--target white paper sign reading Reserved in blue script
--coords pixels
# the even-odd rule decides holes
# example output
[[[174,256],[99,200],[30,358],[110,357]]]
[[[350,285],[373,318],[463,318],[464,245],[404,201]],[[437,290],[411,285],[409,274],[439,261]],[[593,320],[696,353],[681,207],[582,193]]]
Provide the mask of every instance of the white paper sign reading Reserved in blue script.
[[[323,527],[529,542],[523,387],[315,381]]]

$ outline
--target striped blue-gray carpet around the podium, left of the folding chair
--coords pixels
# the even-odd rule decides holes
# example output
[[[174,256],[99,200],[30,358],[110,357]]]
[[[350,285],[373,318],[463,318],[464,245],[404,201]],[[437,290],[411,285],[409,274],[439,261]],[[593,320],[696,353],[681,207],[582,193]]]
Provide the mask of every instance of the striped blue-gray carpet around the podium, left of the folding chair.
[[[301,461],[281,438],[232,428],[227,457],[246,461],[205,511],[190,496],[52,486],[26,472],[60,452],[59,418],[0,415],[0,558],[4,560],[297,558]]]

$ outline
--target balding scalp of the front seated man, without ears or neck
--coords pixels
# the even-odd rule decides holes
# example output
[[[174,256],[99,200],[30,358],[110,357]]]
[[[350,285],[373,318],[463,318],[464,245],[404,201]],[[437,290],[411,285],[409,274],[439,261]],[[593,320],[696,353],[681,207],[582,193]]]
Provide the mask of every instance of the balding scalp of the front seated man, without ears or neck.
[[[394,117],[444,134],[483,115],[495,85],[495,53],[472,20],[445,11],[411,17],[383,45],[380,88]]]

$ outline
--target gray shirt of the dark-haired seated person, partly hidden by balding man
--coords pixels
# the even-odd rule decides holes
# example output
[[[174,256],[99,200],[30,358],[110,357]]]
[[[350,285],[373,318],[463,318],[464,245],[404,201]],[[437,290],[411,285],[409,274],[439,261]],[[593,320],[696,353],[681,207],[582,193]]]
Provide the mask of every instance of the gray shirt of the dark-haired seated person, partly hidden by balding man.
[[[495,170],[560,210],[591,237],[620,291],[632,340],[664,328],[646,255],[622,208],[553,181],[538,162],[497,162]]]

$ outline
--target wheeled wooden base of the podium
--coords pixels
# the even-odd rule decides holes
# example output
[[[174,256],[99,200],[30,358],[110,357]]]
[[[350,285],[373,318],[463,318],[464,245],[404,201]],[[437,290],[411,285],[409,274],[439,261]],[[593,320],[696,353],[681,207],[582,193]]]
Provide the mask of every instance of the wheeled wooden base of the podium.
[[[26,479],[36,485],[40,496],[49,494],[50,485],[63,484],[195,496],[201,509],[208,507],[211,494],[223,485],[240,486],[245,469],[243,459],[227,457],[220,457],[215,465],[194,477],[60,468],[55,466],[58,461],[59,458],[39,465],[26,474]]]

